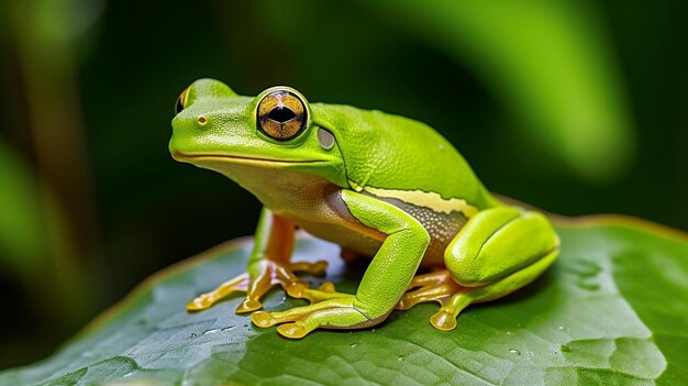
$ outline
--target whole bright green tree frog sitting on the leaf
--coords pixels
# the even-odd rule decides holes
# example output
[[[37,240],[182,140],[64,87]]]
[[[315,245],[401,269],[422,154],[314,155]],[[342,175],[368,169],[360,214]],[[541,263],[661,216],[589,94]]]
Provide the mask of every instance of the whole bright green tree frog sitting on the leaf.
[[[491,196],[424,123],[309,103],[289,87],[253,98],[200,79],[179,96],[171,124],[175,159],[218,172],[263,203],[246,273],[191,300],[188,310],[245,291],[236,312],[300,339],[319,328],[375,326],[395,309],[437,301],[430,323],[450,331],[465,307],[525,286],[558,255],[559,239],[544,214]],[[296,228],[341,245],[343,256],[371,257],[356,294],[331,283],[310,288],[296,275],[325,268],[290,261]],[[259,310],[274,285],[310,305]]]

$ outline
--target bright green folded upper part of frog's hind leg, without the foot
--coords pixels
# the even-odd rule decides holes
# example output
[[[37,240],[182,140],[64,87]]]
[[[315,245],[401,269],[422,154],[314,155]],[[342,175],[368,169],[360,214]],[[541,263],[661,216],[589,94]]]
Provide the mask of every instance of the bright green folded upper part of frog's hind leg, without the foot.
[[[517,207],[499,207],[470,218],[447,246],[444,262],[452,277],[464,287],[485,287],[509,277],[537,261],[550,263],[528,269],[532,276],[513,280],[511,286],[493,287],[493,294],[481,291],[480,300],[507,295],[534,279],[556,257],[559,240],[542,213]],[[554,254],[551,258],[545,258]],[[514,277],[515,278],[515,277]],[[478,299],[474,299],[478,300]]]

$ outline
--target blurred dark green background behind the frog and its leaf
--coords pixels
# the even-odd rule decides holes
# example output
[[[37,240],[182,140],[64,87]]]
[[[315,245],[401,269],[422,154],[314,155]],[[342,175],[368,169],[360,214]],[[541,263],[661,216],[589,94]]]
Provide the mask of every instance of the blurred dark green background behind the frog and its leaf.
[[[167,152],[174,102],[201,77],[411,117],[448,137],[493,191],[688,230],[687,11],[3,2],[0,368],[49,354],[162,267],[253,232],[255,198]]]

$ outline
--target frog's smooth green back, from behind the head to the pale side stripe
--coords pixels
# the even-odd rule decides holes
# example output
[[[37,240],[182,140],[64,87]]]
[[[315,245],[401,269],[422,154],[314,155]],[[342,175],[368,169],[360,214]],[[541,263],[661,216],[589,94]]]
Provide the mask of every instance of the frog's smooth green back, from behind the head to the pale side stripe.
[[[337,145],[354,188],[434,194],[477,209],[493,203],[464,157],[429,125],[348,106],[314,103],[312,109],[315,124],[345,139]]]

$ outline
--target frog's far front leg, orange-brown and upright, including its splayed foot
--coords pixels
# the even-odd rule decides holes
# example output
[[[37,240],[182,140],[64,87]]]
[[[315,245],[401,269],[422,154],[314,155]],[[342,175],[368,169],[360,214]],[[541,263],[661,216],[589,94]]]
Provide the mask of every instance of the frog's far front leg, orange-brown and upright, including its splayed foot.
[[[286,291],[308,288],[308,284],[299,280],[295,272],[321,274],[328,264],[324,261],[291,263],[293,238],[295,227],[291,222],[263,208],[247,272],[191,300],[187,310],[203,310],[235,291],[245,291],[246,298],[236,312],[249,312],[263,307],[260,298],[274,285],[281,285]]]

